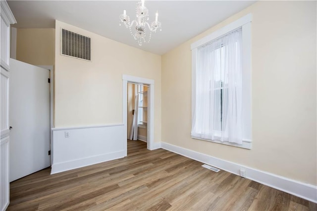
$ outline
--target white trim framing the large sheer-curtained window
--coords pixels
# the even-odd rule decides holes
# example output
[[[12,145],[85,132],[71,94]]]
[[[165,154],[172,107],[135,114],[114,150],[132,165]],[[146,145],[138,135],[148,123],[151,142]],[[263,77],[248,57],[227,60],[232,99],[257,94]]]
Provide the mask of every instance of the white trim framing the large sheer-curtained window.
[[[192,50],[192,119],[196,105],[196,54],[197,48],[221,37],[239,27],[242,27],[242,65],[243,65],[243,143],[221,142],[217,140],[199,139],[224,145],[251,149],[251,21],[252,14],[247,14],[240,19],[222,27],[210,35],[191,44]],[[196,137],[192,137],[198,139]]]

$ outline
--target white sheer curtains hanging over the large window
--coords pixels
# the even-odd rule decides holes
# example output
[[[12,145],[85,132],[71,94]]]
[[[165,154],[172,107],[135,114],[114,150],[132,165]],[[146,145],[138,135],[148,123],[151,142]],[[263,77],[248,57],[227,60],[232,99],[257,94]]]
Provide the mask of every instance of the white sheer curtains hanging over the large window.
[[[191,135],[242,144],[242,29],[197,49]]]

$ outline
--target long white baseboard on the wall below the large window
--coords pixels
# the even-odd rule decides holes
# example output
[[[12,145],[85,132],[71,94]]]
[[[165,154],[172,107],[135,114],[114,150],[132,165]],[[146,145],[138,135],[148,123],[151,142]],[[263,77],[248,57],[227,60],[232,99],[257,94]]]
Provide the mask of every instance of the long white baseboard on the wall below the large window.
[[[243,166],[220,158],[215,158],[206,154],[198,153],[192,150],[188,150],[164,142],[161,142],[161,148],[185,156],[187,158],[192,158],[197,161],[212,165],[214,167],[220,168],[222,170],[231,172],[236,175],[240,175],[241,168],[245,169],[246,178],[248,179],[275,188],[277,190],[284,191],[294,196],[298,196],[308,201],[317,203],[317,186],[292,180],[286,177],[282,177],[276,174],[261,171],[251,167]]]

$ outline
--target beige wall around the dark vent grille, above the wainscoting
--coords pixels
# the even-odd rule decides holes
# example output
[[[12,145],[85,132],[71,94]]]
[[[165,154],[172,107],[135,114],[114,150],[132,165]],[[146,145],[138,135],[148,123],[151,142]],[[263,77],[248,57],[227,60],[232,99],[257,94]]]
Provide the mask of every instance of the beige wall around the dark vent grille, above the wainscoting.
[[[161,141],[161,56],[56,21],[55,127],[122,123],[122,74],[155,81],[154,141]],[[59,30],[88,36],[92,61],[60,55]]]

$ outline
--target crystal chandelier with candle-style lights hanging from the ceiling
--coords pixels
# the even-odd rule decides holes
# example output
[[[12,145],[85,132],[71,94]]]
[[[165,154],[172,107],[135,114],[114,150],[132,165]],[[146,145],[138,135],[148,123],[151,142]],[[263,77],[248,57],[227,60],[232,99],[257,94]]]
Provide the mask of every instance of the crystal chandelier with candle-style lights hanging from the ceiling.
[[[161,29],[161,23],[158,21],[159,13],[155,14],[155,21],[151,25],[147,22],[149,20],[149,10],[144,6],[144,0],[137,3],[136,7],[136,19],[130,22],[130,17],[126,14],[126,10],[123,10],[123,14],[119,16],[120,26],[123,23],[130,29],[131,35],[142,46],[142,43],[150,43],[152,32],[157,32],[157,29]],[[149,37],[146,39],[146,30],[149,29]]]

